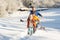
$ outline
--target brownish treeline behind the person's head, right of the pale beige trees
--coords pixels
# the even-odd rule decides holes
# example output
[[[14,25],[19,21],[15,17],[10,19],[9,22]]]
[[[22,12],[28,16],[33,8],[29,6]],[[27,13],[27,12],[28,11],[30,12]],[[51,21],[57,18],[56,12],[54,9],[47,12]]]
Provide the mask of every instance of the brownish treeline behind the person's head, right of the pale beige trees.
[[[23,5],[29,7],[32,3],[35,7],[48,7],[48,8],[58,8],[60,7],[60,0],[22,0]]]

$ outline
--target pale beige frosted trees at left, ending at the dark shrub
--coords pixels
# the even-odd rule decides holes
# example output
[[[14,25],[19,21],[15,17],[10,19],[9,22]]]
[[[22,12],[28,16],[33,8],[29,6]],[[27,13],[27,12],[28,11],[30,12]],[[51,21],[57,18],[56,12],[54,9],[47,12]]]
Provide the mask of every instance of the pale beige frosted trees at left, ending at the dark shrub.
[[[0,0],[0,17],[24,7],[21,0]]]

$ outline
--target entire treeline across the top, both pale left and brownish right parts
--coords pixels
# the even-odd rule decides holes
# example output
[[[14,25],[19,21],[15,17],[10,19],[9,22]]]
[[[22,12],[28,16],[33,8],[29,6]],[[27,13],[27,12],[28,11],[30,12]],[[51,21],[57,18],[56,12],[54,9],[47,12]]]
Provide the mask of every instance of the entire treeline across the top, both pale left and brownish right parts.
[[[21,7],[30,7],[30,4],[35,7],[58,8],[60,0],[0,0],[0,17],[8,16],[8,13]]]

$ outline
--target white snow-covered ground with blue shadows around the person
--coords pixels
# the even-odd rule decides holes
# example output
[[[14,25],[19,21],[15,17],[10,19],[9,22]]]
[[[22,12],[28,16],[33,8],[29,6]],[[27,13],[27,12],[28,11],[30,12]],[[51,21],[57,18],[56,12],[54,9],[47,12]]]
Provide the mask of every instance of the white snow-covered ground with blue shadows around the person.
[[[37,30],[32,36],[27,35],[26,28],[29,12],[22,12],[16,17],[10,15],[12,17],[0,18],[0,40],[60,40],[60,9],[49,9],[40,13],[44,16],[40,18],[41,25],[46,30]],[[20,19],[24,22],[20,22]]]

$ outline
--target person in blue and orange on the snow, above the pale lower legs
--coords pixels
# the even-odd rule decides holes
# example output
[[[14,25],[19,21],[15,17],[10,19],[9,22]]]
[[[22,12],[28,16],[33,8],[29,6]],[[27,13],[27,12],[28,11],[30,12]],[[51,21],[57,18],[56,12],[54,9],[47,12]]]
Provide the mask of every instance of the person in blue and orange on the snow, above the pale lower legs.
[[[30,11],[27,19],[27,28],[29,28],[30,23],[32,23],[34,26],[34,30],[36,30],[36,28],[38,27],[38,22],[40,21],[38,16],[42,17],[42,15],[38,11],[36,11],[34,7],[32,7],[32,11]]]

